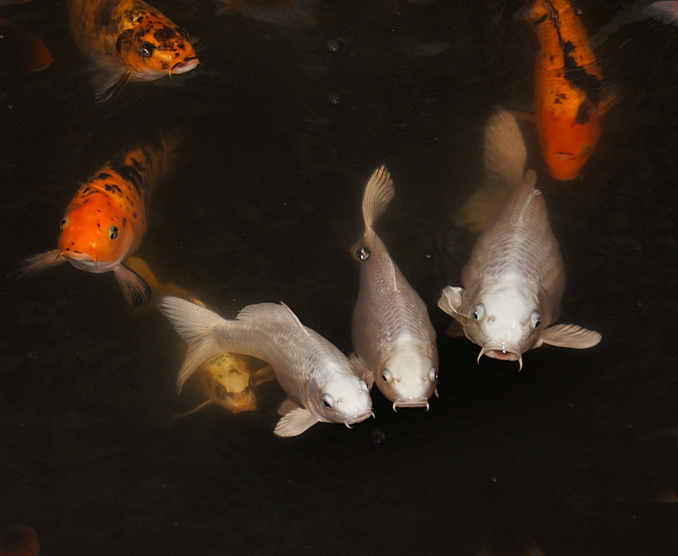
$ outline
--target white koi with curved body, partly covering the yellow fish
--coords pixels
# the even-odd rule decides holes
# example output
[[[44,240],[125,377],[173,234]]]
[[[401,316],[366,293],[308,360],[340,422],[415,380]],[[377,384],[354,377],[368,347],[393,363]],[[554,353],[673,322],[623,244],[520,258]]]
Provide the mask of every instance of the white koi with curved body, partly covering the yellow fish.
[[[203,361],[229,351],[273,367],[289,396],[280,406],[278,436],[299,435],[319,421],[350,427],[372,415],[367,384],[355,376],[346,356],[302,325],[289,307],[250,305],[236,320],[225,320],[177,297],[161,297],[157,306],[189,347],[177,378],[179,391]]]

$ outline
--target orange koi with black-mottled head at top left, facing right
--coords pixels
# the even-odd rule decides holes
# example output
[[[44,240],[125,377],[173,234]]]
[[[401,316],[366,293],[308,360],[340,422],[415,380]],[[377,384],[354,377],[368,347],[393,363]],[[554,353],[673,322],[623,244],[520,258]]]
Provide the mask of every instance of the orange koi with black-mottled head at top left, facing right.
[[[70,0],[69,8],[78,48],[109,73],[97,102],[117,97],[129,80],[171,77],[199,63],[189,34],[142,0]]]

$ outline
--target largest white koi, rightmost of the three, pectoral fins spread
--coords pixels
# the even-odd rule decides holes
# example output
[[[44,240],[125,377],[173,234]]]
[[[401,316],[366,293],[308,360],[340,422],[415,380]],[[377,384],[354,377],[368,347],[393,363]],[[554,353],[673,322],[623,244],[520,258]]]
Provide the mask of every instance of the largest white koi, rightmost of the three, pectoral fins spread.
[[[438,306],[464,327],[484,354],[520,361],[542,343],[588,348],[600,334],[575,325],[555,325],[560,316],[565,272],[551,231],[546,203],[535,189],[536,174],[524,175],[525,145],[508,111],[487,123],[485,166],[503,177],[513,193],[492,227],[478,238],[461,272],[462,288],[448,286]],[[521,183],[517,183],[520,181]],[[516,185],[517,183],[517,185]]]

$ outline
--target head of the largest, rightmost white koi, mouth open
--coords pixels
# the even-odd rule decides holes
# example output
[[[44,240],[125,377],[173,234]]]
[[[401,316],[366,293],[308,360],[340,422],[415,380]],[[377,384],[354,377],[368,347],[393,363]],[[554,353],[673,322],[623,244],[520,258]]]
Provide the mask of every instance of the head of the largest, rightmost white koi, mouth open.
[[[533,291],[519,281],[495,282],[469,301],[464,332],[482,348],[480,356],[521,361],[522,367],[523,353],[540,344],[547,326]]]

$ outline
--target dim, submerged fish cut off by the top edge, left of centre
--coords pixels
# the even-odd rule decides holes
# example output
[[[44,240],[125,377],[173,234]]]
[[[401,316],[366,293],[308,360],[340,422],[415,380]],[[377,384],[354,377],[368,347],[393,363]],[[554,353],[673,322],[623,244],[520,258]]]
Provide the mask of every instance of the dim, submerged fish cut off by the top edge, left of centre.
[[[246,18],[263,23],[289,27],[314,25],[316,21],[311,16],[312,2],[313,0],[217,0],[217,14],[235,10]]]

